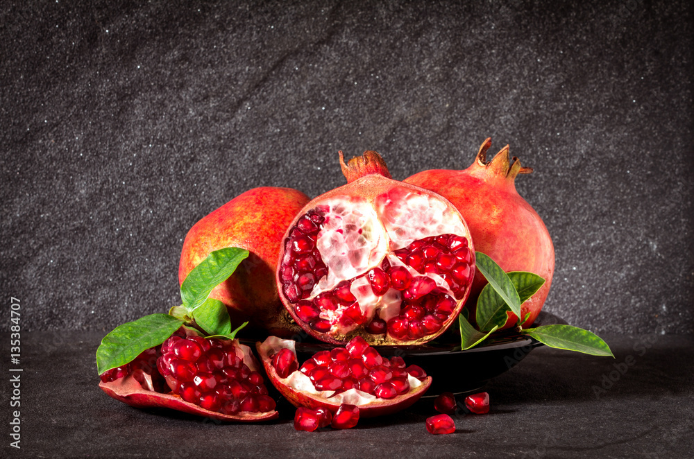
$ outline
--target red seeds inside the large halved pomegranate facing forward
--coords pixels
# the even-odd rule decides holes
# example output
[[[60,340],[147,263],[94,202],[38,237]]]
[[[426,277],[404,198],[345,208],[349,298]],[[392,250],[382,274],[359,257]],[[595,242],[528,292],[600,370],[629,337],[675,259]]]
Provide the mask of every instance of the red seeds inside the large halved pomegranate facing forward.
[[[298,220],[285,240],[285,255],[280,267],[282,292],[294,305],[299,320],[315,331],[328,333],[337,323],[344,331],[364,326],[374,335],[387,333],[396,340],[417,340],[443,327],[455,311],[457,300],[464,296],[472,282],[472,254],[467,239],[441,234],[395,250],[365,275],[344,279],[332,290],[316,295],[314,286],[328,275],[328,268],[316,247],[324,221],[325,217],[316,209]],[[437,286],[430,274],[440,276],[453,296]],[[360,305],[353,294],[353,283],[362,277],[366,277],[373,293],[367,294],[370,300],[362,299],[362,303],[371,301],[373,304]],[[362,283],[359,281],[359,285]],[[386,298],[380,300],[384,296]],[[395,313],[378,314],[376,311],[365,315],[366,309],[378,307],[379,301],[384,308],[395,307]],[[382,317],[387,318],[387,322]]]

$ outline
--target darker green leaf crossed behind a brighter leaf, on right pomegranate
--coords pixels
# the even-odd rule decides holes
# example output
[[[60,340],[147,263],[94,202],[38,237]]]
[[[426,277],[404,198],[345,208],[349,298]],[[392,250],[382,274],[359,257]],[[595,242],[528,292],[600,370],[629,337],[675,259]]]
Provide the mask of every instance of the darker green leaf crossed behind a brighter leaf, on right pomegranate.
[[[545,283],[545,279],[532,272],[510,271],[506,274],[514,284],[521,304],[532,297]],[[491,284],[486,284],[482,288],[480,296],[477,297],[475,312],[477,327],[482,331],[489,331],[494,325],[503,327],[508,320],[507,311],[509,311],[507,302],[494,290]]]

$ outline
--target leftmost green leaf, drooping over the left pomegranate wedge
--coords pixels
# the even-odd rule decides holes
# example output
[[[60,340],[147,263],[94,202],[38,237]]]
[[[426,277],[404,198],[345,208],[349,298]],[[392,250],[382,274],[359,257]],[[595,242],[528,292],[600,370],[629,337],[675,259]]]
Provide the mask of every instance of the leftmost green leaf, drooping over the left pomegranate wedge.
[[[145,315],[119,325],[103,337],[99,349],[96,349],[99,374],[130,363],[144,350],[164,343],[181,325],[183,320],[168,314]]]

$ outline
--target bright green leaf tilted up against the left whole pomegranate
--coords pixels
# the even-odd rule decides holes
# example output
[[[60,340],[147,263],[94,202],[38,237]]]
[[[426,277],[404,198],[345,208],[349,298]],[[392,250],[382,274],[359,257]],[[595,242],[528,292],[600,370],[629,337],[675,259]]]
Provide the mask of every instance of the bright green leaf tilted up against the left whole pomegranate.
[[[208,299],[212,288],[234,273],[239,263],[248,257],[248,250],[230,247],[211,252],[198,264],[180,286],[183,306],[193,311]]]

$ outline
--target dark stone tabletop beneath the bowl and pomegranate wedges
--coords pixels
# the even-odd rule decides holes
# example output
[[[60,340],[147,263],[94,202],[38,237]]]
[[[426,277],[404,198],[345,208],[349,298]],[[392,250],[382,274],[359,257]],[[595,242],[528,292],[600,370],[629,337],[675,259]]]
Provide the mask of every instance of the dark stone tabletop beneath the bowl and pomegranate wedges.
[[[491,381],[487,415],[455,416],[430,435],[431,399],[348,431],[298,432],[294,410],[266,424],[215,424],[169,410],[138,410],[97,386],[96,331],[23,339],[20,451],[2,457],[96,458],[682,458],[694,434],[692,336],[605,336],[616,356],[540,347]],[[8,344],[1,344],[3,355]],[[4,362],[4,360],[3,360]],[[15,365],[12,365],[15,367]],[[471,371],[474,371],[471,369]],[[3,363],[3,374],[8,374]],[[5,379],[5,378],[3,378]],[[8,406],[10,383],[0,383]],[[452,388],[455,390],[455,388]],[[6,408],[2,419],[8,419]],[[10,422],[10,419],[7,420]],[[7,438],[8,424],[3,436]]]

